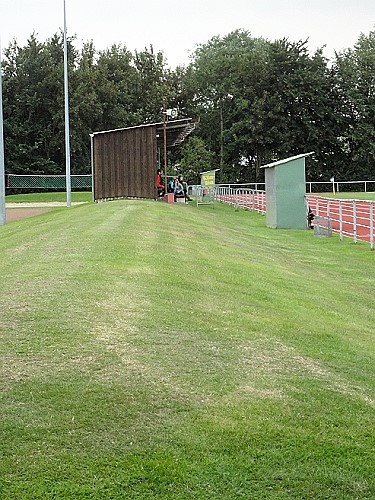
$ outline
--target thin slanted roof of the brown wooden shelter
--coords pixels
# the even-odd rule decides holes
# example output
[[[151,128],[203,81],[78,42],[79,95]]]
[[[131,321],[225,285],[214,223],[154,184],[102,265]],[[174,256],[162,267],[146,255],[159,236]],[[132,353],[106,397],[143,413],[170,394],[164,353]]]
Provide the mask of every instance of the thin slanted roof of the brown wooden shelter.
[[[178,144],[181,144],[186,139],[186,137],[189,134],[191,134],[191,132],[195,129],[196,124],[192,121],[191,118],[183,118],[180,120],[168,121],[166,122],[165,125],[167,129],[167,147],[170,148],[173,146],[177,146]],[[158,147],[162,147],[164,144],[163,122],[144,123],[143,125],[137,125],[135,127],[124,127],[113,130],[102,130],[100,132],[94,132],[92,135],[95,136],[99,134],[110,134],[113,132],[121,132],[124,130],[135,130],[137,128],[144,128],[144,127],[156,127],[157,145]]]

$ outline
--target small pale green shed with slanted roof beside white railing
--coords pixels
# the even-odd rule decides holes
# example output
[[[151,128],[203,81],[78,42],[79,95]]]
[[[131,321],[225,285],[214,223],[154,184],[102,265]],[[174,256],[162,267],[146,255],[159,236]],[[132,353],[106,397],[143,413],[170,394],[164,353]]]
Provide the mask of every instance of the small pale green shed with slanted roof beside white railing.
[[[305,158],[291,156],[263,165],[266,181],[266,224],[270,228],[306,229]]]

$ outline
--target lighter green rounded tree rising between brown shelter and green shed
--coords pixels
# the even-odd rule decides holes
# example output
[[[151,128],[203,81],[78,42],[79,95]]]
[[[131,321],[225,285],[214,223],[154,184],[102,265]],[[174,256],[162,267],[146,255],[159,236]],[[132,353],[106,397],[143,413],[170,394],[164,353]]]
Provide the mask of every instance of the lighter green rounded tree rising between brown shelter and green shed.
[[[196,87],[194,100],[201,116],[199,130],[216,152],[223,176],[234,174],[233,168],[240,164],[241,153],[233,148],[244,130],[240,125],[237,130],[231,130],[231,126],[236,111],[241,110],[241,117],[250,111],[256,78],[264,69],[266,46],[265,40],[254,39],[247,31],[237,30],[223,38],[212,38],[200,45],[194,54],[192,78]]]

